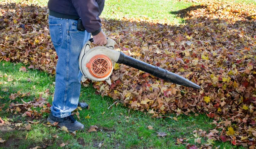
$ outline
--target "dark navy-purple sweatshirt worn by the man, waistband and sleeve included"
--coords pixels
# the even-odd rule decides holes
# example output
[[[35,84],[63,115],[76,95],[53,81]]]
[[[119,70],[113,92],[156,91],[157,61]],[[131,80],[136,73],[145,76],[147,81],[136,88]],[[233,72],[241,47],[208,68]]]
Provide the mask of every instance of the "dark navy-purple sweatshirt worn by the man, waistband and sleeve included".
[[[92,35],[101,31],[99,15],[104,9],[105,0],[49,0],[49,14],[65,19],[81,18],[83,26]]]

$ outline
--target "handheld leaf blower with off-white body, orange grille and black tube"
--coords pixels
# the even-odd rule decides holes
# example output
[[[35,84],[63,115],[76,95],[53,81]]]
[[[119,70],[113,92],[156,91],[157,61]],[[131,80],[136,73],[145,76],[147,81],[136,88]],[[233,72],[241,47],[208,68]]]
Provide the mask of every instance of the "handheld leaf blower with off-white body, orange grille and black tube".
[[[83,74],[82,81],[89,78],[93,81],[106,81],[111,85],[110,76],[113,72],[114,64],[122,63],[181,86],[201,89],[197,84],[184,77],[169,72],[166,69],[152,66],[133,57],[129,57],[122,52],[113,50],[116,42],[110,38],[108,38],[106,46],[96,46],[91,48],[90,44],[92,42],[93,38],[88,40],[84,44],[79,55],[79,69]]]

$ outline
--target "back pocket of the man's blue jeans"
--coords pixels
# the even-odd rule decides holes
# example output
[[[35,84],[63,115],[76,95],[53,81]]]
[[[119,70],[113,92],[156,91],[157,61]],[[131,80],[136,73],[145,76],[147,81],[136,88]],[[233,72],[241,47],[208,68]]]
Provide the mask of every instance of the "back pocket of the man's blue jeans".
[[[61,24],[50,24],[49,23],[49,30],[52,39],[52,43],[55,46],[59,46],[62,44],[62,30]]]

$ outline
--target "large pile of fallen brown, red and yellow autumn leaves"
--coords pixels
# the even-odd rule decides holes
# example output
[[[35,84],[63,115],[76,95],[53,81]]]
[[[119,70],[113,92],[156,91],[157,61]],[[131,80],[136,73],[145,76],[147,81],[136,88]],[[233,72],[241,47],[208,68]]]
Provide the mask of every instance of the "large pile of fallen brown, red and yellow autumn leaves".
[[[27,2],[26,2],[27,3]],[[0,60],[55,73],[47,8],[1,2]],[[201,86],[189,89],[137,69],[115,65],[112,85],[93,82],[97,93],[154,117],[206,113],[215,129],[207,137],[234,145],[256,143],[256,6],[212,2],[173,12],[185,25],[143,18],[103,20],[122,52],[175,72]]]

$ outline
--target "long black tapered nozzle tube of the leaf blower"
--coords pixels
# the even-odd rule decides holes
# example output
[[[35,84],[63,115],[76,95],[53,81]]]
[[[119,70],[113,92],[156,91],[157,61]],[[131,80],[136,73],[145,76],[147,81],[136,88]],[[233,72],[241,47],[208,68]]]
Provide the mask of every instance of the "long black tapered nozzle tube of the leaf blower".
[[[148,63],[142,62],[140,60],[137,60],[135,58],[129,57],[127,55],[125,55],[124,53],[120,52],[120,56],[119,59],[116,63],[122,63],[125,64],[127,66],[131,66],[133,68],[139,69],[143,72],[147,72],[149,74],[152,74],[156,77],[159,77],[163,80],[175,83],[175,84],[179,84],[181,86],[187,86],[187,87],[191,87],[193,89],[201,89],[200,86],[198,86],[197,84],[187,80],[184,77],[181,77],[175,73],[169,72],[166,69],[162,69],[160,67],[157,66],[152,66]]]

